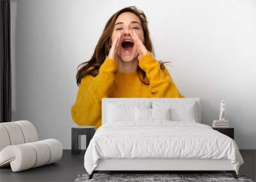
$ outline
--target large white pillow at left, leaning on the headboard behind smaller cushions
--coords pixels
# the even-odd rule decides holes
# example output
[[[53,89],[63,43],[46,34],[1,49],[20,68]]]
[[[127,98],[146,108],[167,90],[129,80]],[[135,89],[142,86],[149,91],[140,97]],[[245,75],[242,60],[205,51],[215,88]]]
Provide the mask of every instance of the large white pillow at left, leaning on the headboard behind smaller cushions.
[[[135,107],[150,108],[150,102],[123,103],[109,102],[107,107],[107,122],[135,121]]]

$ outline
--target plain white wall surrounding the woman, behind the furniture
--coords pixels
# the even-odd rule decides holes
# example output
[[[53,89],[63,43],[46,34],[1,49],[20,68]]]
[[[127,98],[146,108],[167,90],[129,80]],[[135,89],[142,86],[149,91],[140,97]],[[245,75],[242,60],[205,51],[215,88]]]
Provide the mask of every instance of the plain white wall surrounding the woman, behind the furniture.
[[[180,92],[202,98],[202,121],[221,99],[241,149],[256,149],[256,1],[11,0],[13,121],[70,149],[77,65],[88,61],[109,17],[135,5],[148,17],[156,58]],[[254,71],[254,72],[253,72]]]

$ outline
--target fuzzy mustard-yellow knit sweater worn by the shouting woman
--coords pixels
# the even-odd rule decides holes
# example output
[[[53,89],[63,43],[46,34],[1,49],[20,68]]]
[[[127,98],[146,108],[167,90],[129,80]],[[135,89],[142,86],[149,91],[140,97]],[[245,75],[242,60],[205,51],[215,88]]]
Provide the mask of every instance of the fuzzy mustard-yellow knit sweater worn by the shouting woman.
[[[148,52],[138,62],[146,72],[149,85],[141,82],[137,72],[119,72],[118,63],[106,57],[96,77],[81,79],[76,103],[71,107],[72,119],[77,125],[99,128],[102,98],[185,98],[175,86],[166,68]]]

